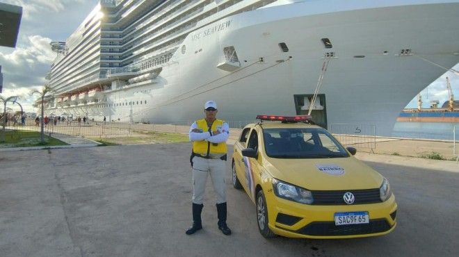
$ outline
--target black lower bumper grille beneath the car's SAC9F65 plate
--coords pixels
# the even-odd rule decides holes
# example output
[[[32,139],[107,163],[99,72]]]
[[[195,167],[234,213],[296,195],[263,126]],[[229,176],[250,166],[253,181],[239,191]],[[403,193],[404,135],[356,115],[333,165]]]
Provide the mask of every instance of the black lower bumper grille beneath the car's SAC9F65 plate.
[[[335,222],[312,222],[296,231],[302,235],[364,235],[383,233],[391,229],[386,219],[372,219],[369,224],[353,224],[336,226]]]

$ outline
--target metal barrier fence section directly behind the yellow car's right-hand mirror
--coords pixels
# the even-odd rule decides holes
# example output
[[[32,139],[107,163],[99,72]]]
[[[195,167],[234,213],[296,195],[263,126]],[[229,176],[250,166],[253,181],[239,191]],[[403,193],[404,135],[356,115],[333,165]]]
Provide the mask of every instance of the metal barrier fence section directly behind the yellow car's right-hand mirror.
[[[332,124],[330,132],[346,147],[376,149],[376,125]]]

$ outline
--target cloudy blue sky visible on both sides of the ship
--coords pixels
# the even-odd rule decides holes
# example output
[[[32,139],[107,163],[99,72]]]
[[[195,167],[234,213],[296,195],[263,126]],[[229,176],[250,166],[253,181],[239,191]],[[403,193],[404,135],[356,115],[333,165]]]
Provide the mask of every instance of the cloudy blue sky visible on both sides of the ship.
[[[38,96],[31,95],[31,91],[40,90],[47,84],[45,76],[56,57],[49,43],[65,41],[99,0],[0,0],[0,3],[22,6],[16,47],[0,47],[3,73],[1,96],[21,97],[19,103],[24,110],[35,113],[37,110],[32,104]],[[453,69],[459,70],[459,65]],[[449,100],[446,76],[449,77],[455,99],[459,99],[459,74],[446,72],[420,92],[423,108],[429,108],[432,100],[440,101],[440,106]],[[20,110],[17,104],[7,107]],[[417,95],[407,103],[407,108],[417,108]]]

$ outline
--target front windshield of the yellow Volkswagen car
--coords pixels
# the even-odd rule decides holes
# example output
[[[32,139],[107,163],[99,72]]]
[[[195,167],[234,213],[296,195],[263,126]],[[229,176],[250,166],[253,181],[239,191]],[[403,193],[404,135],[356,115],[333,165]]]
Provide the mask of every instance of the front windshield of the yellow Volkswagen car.
[[[341,158],[348,152],[322,128],[265,128],[266,154],[272,158]]]

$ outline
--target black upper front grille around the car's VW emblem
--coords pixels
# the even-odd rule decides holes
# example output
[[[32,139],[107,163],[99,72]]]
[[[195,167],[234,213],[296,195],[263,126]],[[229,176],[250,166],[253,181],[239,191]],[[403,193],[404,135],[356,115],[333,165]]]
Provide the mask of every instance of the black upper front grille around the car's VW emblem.
[[[382,202],[379,188],[365,190],[311,191],[314,202],[312,205],[346,205],[344,194],[354,194],[353,204],[377,204]]]

